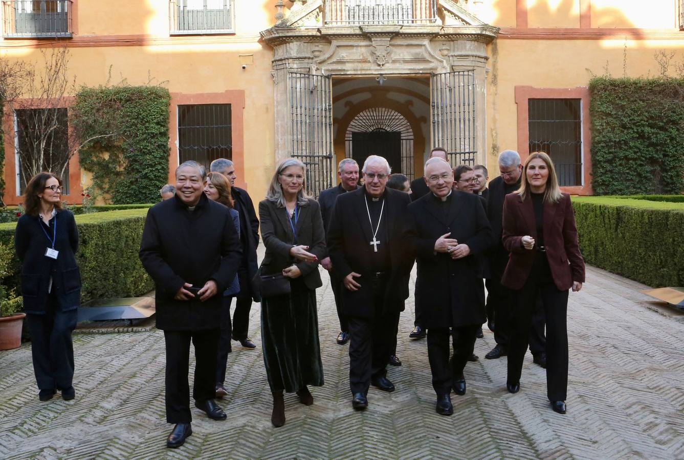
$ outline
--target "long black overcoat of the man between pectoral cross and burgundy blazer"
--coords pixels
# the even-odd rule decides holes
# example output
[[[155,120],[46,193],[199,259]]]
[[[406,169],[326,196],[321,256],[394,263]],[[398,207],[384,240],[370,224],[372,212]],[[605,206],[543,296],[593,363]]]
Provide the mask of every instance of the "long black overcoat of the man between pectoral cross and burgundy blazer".
[[[485,321],[484,284],[477,256],[492,244],[492,230],[477,195],[454,190],[449,213],[432,193],[408,206],[410,230],[408,247],[418,265],[416,308],[423,327],[481,325]],[[434,243],[443,234],[465,243],[471,253],[453,260],[449,254],[435,253]]]

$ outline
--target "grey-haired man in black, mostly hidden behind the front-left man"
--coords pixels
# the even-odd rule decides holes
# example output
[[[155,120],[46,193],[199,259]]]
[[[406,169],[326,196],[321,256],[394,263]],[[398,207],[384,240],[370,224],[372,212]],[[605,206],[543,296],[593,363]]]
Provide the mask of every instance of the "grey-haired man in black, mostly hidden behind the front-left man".
[[[232,339],[240,342],[246,349],[255,349],[257,346],[248,338],[250,327],[250,311],[252,310],[252,300],[261,301],[259,290],[252,286],[252,280],[257,273],[257,247],[259,246],[259,219],[254,211],[254,204],[249,193],[245,189],[235,187],[235,165],[233,161],[219,158],[209,165],[211,172],[218,172],[226,176],[231,182],[231,195],[233,196],[233,206],[240,215],[240,243],[242,244],[242,260],[237,271],[237,279],[240,284],[240,292],[235,296],[235,313],[233,314]],[[228,319],[231,312],[228,307]],[[230,338],[228,339],[228,349],[224,353],[230,353]],[[228,392],[223,388],[222,376],[216,377],[216,396],[222,398]]]

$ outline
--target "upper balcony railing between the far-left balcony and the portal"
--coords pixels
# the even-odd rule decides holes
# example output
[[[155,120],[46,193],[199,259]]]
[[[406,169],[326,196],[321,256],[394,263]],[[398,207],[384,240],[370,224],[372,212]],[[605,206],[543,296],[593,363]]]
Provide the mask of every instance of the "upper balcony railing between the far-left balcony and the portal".
[[[169,0],[172,35],[235,32],[235,0]]]

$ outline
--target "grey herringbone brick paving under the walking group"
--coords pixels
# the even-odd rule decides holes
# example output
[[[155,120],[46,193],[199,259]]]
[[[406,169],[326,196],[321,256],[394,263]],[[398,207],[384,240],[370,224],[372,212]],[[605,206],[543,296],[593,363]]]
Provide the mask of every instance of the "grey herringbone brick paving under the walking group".
[[[544,370],[529,354],[521,392],[506,392],[506,358],[484,360],[494,345],[485,329],[475,345],[483,359],[466,366],[468,392],[452,394],[454,415],[443,417],[434,412],[425,340],[408,340],[412,299],[400,323],[404,366],[389,370],[397,391],[371,387],[369,409],[353,411],[348,345],[334,341],[337,316],[322,278],[326,384],[313,388],[311,407],[285,397],[284,427],[270,423],[261,352],[237,345],[220,403],[228,420],[193,409],[193,435],[168,450],[163,334],[78,335],[74,401],[38,401],[30,344],[0,353],[0,458],[684,459],[684,323],[647,310],[644,286],[589,267],[581,293],[570,294],[566,416],[549,408]],[[259,344],[258,304],[250,336]]]

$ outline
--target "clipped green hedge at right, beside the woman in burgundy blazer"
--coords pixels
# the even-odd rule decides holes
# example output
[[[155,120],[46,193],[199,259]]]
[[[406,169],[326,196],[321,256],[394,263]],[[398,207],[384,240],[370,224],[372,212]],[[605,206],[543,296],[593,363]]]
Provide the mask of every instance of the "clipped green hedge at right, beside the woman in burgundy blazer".
[[[588,264],[648,286],[684,286],[684,203],[573,198]]]

